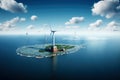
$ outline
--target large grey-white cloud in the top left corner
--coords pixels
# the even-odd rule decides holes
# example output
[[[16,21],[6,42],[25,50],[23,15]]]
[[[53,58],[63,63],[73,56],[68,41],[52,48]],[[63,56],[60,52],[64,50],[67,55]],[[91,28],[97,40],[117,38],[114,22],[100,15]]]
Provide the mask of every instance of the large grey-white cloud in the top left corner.
[[[0,8],[12,13],[27,12],[27,7],[23,3],[18,3],[15,0],[0,0]]]

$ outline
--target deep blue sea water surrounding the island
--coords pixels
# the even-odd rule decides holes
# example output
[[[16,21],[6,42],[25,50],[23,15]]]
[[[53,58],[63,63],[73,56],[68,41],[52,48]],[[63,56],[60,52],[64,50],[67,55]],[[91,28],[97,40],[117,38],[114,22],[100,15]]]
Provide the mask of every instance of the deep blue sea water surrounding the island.
[[[83,44],[79,51],[53,58],[19,56],[25,45],[50,43],[44,36],[0,36],[0,80],[120,80],[120,36],[57,36],[56,43]]]

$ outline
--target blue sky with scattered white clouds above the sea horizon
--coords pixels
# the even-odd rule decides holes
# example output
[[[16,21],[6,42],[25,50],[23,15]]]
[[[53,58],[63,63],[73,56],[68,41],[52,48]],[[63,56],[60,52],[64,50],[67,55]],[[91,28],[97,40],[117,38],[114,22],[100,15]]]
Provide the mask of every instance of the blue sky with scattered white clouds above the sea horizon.
[[[120,31],[119,0],[0,0],[0,33]]]

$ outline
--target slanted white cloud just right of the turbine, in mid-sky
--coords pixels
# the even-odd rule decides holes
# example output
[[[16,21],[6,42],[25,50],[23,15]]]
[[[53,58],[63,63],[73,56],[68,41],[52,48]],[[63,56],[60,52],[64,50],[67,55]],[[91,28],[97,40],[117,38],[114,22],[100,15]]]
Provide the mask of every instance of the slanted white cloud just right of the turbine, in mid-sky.
[[[65,25],[77,24],[84,21],[84,17],[72,17]]]

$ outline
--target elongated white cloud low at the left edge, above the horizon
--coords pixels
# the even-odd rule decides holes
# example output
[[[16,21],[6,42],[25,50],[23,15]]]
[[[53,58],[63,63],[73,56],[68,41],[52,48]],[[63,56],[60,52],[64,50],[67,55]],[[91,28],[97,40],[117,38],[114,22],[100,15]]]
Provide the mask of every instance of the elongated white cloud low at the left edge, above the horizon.
[[[9,21],[5,21],[0,24],[0,31],[12,30],[16,27],[16,24],[18,22],[21,22],[21,18],[19,18],[19,17],[15,17]]]

